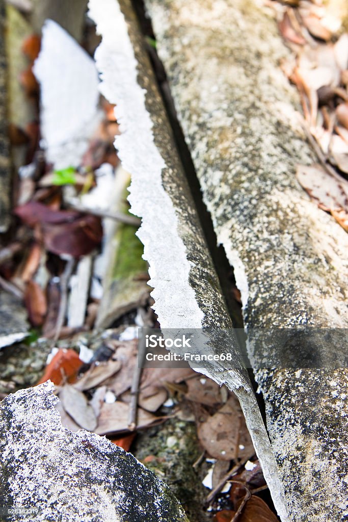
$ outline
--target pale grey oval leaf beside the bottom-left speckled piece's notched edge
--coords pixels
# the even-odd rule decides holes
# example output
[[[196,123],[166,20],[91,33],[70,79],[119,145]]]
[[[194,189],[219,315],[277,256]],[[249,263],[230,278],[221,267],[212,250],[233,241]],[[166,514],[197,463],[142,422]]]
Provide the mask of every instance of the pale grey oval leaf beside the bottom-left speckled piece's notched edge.
[[[93,408],[88,404],[86,396],[69,384],[65,384],[59,392],[65,411],[74,421],[88,431],[97,427]]]

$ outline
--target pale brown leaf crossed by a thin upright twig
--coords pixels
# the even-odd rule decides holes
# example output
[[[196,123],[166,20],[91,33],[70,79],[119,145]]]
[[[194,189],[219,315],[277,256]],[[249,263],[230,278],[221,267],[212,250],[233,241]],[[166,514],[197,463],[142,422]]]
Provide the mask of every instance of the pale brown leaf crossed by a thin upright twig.
[[[157,417],[148,411],[138,408],[138,428],[143,428],[152,424]],[[98,427],[94,430],[99,435],[107,435],[108,433],[117,433],[128,430],[129,424],[129,406],[124,402],[116,400],[112,404],[104,404],[101,407],[98,419]]]

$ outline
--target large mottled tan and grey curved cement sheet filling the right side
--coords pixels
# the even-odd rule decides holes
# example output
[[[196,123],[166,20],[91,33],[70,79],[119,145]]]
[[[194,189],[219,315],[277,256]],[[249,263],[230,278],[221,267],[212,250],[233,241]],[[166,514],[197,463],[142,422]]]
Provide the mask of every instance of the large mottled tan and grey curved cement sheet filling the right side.
[[[250,0],[146,4],[246,327],[347,327],[347,235],[295,180],[296,163],[312,155],[274,21]],[[258,367],[265,352],[253,352],[254,340]],[[257,379],[292,519],[343,520],[348,372],[259,371]]]

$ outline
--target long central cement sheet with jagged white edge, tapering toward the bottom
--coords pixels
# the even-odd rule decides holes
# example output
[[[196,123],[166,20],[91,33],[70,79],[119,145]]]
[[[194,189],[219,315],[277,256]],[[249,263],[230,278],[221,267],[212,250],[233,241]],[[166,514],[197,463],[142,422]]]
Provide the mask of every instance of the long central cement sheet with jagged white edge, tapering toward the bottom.
[[[151,295],[161,328],[203,329],[208,350],[219,353],[225,346],[214,333],[231,328],[231,319],[137,20],[128,0],[119,4],[90,0],[89,16],[102,35],[95,53],[101,92],[116,104],[121,135],[115,143],[123,167],[131,174],[131,211],[142,218],[137,235],[149,263],[149,285],[154,289]],[[234,336],[229,350],[232,363],[206,362],[200,371],[219,384],[226,383],[241,401],[274,505],[287,520],[279,471]]]

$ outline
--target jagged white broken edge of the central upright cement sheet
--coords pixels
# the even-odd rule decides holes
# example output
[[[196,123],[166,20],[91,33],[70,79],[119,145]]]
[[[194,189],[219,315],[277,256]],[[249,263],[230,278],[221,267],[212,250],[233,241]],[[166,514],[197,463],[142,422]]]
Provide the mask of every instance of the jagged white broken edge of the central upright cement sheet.
[[[146,91],[137,82],[137,61],[126,21],[116,0],[90,0],[88,5],[89,16],[102,35],[95,52],[100,90],[110,103],[117,104],[121,135],[115,146],[131,174],[131,212],[142,218],[137,235],[149,263],[155,311],[162,328],[201,328],[204,314],[189,284],[190,262],[177,232],[175,209],[162,185],[166,164],[154,144]]]

